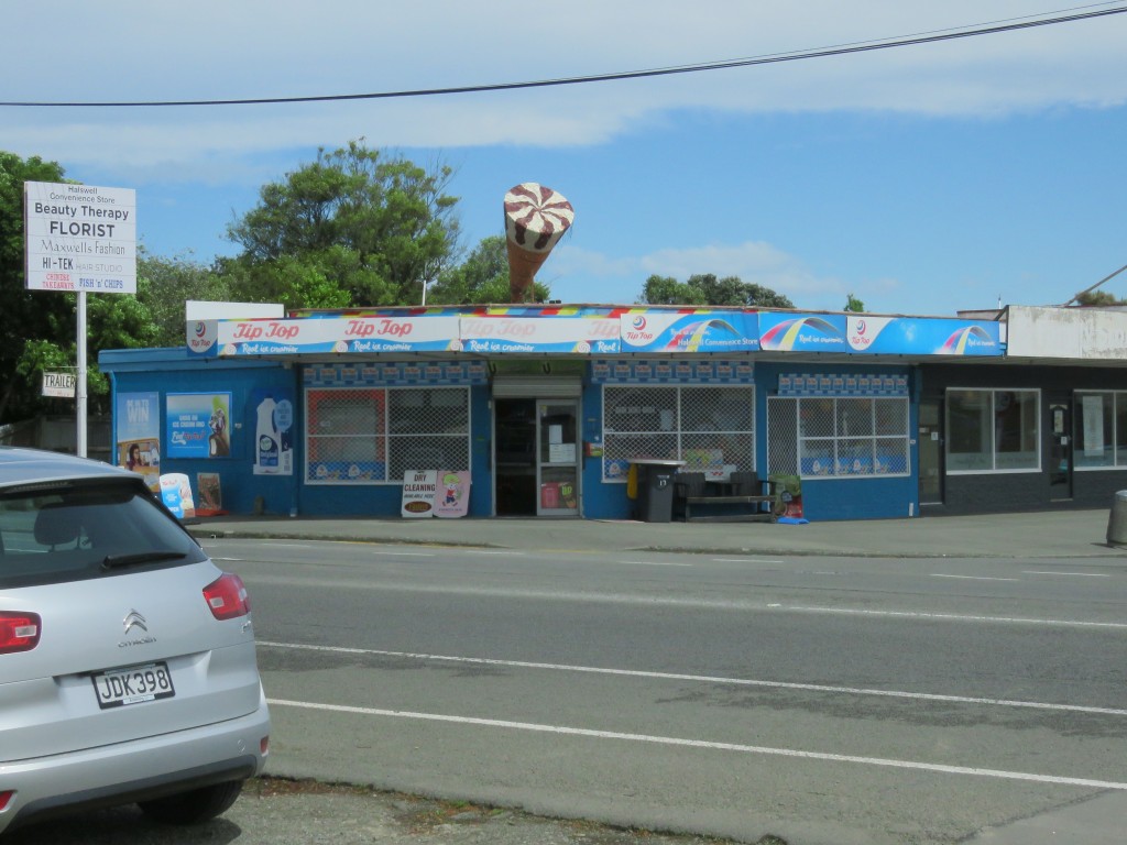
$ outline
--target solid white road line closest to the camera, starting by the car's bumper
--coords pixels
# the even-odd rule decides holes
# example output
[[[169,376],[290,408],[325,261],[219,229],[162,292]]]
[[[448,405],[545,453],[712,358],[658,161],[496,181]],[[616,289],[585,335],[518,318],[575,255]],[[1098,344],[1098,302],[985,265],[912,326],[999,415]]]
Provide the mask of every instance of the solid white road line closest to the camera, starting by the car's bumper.
[[[765,746],[740,745],[736,742],[712,742],[702,739],[681,739],[677,737],[656,737],[646,733],[622,733],[620,731],[589,730],[586,728],[569,728],[560,724],[536,724],[533,722],[513,722],[503,719],[478,719],[463,715],[445,715],[441,713],[416,713],[405,710],[380,710],[376,708],[356,708],[344,704],[319,704],[308,701],[287,701],[269,699],[270,706],[301,708],[303,710],[320,710],[334,713],[355,715],[391,717],[396,719],[417,719],[432,722],[451,722],[455,724],[473,724],[486,728],[507,728],[509,730],[526,730],[538,733],[557,733],[571,737],[589,737],[593,739],[619,739],[632,742],[649,742],[653,745],[676,746],[683,748],[703,748],[708,750],[739,751],[743,754],[760,754],[774,757],[795,757],[829,763],[855,763],[868,766],[889,766],[921,772],[942,774],[975,775],[978,777],[995,777],[1010,781],[1032,781],[1062,786],[1088,786],[1102,790],[1127,790],[1127,783],[1116,781],[1094,781],[1086,777],[1063,777],[1058,775],[1033,774],[1030,772],[1005,772],[996,768],[978,768],[975,766],[949,766],[939,763],[917,760],[888,759],[884,757],[859,757],[849,754],[828,754],[825,751],[801,751],[793,748],[769,748]]]

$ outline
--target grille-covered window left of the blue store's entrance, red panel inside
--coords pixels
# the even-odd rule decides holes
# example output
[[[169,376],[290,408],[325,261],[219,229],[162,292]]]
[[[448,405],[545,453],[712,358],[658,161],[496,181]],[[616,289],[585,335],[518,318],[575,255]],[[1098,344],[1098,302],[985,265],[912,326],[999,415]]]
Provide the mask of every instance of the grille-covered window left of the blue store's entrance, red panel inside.
[[[467,470],[468,388],[305,391],[305,481],[398,482],[403,470]]]

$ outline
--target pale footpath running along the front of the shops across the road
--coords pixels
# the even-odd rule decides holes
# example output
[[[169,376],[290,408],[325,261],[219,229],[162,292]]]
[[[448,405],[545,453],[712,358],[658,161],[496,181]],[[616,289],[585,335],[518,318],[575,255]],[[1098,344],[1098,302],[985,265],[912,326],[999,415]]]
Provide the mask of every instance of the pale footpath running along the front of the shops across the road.
[[[574,551],[754,552],[835,557],[1084,558],[1107,545],[1110,506],[1097,510],[782,523],[642,523],[606,519],[405,519],[227,516],[193,521],[198,537],[301,537]]]

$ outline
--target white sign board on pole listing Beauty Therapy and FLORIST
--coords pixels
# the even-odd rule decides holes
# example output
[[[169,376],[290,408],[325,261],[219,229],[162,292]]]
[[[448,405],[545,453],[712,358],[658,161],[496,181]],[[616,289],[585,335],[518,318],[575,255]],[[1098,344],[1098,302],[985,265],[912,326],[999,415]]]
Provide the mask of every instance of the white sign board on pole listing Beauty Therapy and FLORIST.
[[[136,293],[136,192],[29,181],[24,186],[29,291]]]

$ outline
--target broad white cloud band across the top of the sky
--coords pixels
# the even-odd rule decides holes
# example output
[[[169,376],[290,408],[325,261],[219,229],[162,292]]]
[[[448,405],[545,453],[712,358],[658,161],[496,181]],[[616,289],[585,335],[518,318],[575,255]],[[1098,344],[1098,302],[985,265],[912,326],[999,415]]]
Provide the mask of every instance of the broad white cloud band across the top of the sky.
[[[849,44],[1028,15],[1020,0],[118,0],[68,3],[48,35],[6,15],[0,100],[348,95],[653,69]],[[334,145],[592,145],[678,109],[999,115],[1127,101],[1127,15],[709,73],[564,88],[294,106],[5,108],[5,144],[166,176]]]

